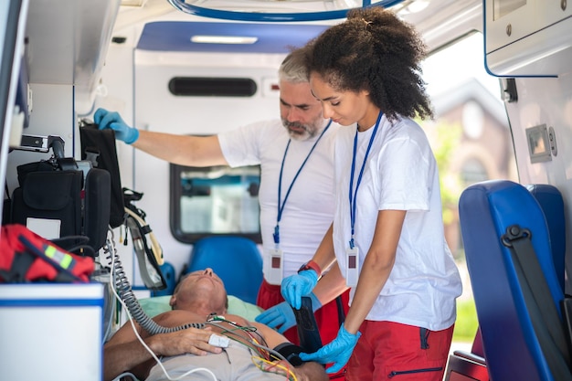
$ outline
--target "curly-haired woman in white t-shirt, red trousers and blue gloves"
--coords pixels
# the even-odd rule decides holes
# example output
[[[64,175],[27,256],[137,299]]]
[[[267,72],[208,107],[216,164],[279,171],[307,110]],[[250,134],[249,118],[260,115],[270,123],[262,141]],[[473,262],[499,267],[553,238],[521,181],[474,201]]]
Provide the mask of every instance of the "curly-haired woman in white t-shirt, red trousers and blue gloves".
[[[348,381],[440,381],[450,349],[461,278],[444,238],[437,164],[412,120],[432,116],[424,49],[380,7],[350,11],[308,47],[312,93],[324,118],[346,127],[334,143],[333,226],[281,292],[299,308],[335,256],[351,307],[334,341],[301,358],[334,363],[328,373],[347,363]]]

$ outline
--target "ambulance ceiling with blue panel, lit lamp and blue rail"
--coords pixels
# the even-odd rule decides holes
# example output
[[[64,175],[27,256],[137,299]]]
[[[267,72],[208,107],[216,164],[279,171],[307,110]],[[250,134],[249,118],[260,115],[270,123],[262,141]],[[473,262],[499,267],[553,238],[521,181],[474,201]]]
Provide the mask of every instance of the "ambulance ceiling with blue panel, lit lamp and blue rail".
[[[166,12],[143,23],[136,42],[137,49],[156,52],[286,53],[361,6],[391,8],[418,28],[429,49],[482,24],[482,0],[122,0],[122,5],[137,1],[141,10],[154,5]],[[205,37],[247,42],[207,43]]]

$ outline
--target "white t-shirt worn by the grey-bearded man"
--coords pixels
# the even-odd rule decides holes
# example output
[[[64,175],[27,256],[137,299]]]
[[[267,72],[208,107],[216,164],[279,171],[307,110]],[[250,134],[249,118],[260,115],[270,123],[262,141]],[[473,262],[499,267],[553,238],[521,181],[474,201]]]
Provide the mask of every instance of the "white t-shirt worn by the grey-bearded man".
[[[332,123],[323,134],[300,175],[292,179],[320,136],[307,140],[292,139],[284,161],[281,181],[280,249],[283,274],[295,274],[312,259],[315,250],[334,218],[334,135],[339,129]],[[274,227],[278,217],[278,185],[281,164],[290,136],[280,120],[257,122],[218,135],[220,147],[230,166],[260,164],[260,227],[264,248],[264,274],[269,271],[267,249],[274,249]],[[274,284],[280,284],[280,282]]]

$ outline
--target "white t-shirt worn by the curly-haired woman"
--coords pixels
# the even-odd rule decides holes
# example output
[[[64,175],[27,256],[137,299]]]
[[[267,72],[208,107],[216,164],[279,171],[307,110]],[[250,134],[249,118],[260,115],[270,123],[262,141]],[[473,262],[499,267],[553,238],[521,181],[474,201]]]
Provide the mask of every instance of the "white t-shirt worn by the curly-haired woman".
[[[354,191],[374,128],[358,132]],[[351,237],[349,183],[355,128],[342,129],[335,141],[337,205],[334,249],[345,274]],[[407,210],[391,274],[367,320],[421,326],[432,331],[455,322],[461,277],[443,232],[437,164],[425,132],[409,119],[395,124],[382,117],[356,196],[355,246],[360,270],[371,245],[379,210]],[[350,301],[355,289],[352,289]]]

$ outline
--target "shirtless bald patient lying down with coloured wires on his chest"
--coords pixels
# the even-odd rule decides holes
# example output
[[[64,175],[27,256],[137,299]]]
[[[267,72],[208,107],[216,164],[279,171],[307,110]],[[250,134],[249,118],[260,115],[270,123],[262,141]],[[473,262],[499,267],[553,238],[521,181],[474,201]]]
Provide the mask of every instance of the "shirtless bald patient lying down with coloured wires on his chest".
[[[290,344],[280,333],[226,314],[227,291],[211,269],[191,272],[181,280],[170,305],[173,311],[156,316],[156,323],[164,327],[205,323],[205,328],[149,335],[135,323],[143,342],[161,359],[158,365],[136,337],[131,323],[124,324],[104,345],[106,381],[124,372],[140,380],[168,380],[165,371],[171,378],[177,378],[194,369],[197,370],[180,379],[287,380],[294,376],[301,381],[328,379],[322,365],[302,364],[296,355],[302,348]],[[216,336],[211,338],[213,334]],[[209,339],[212,344],[208,344]]]

